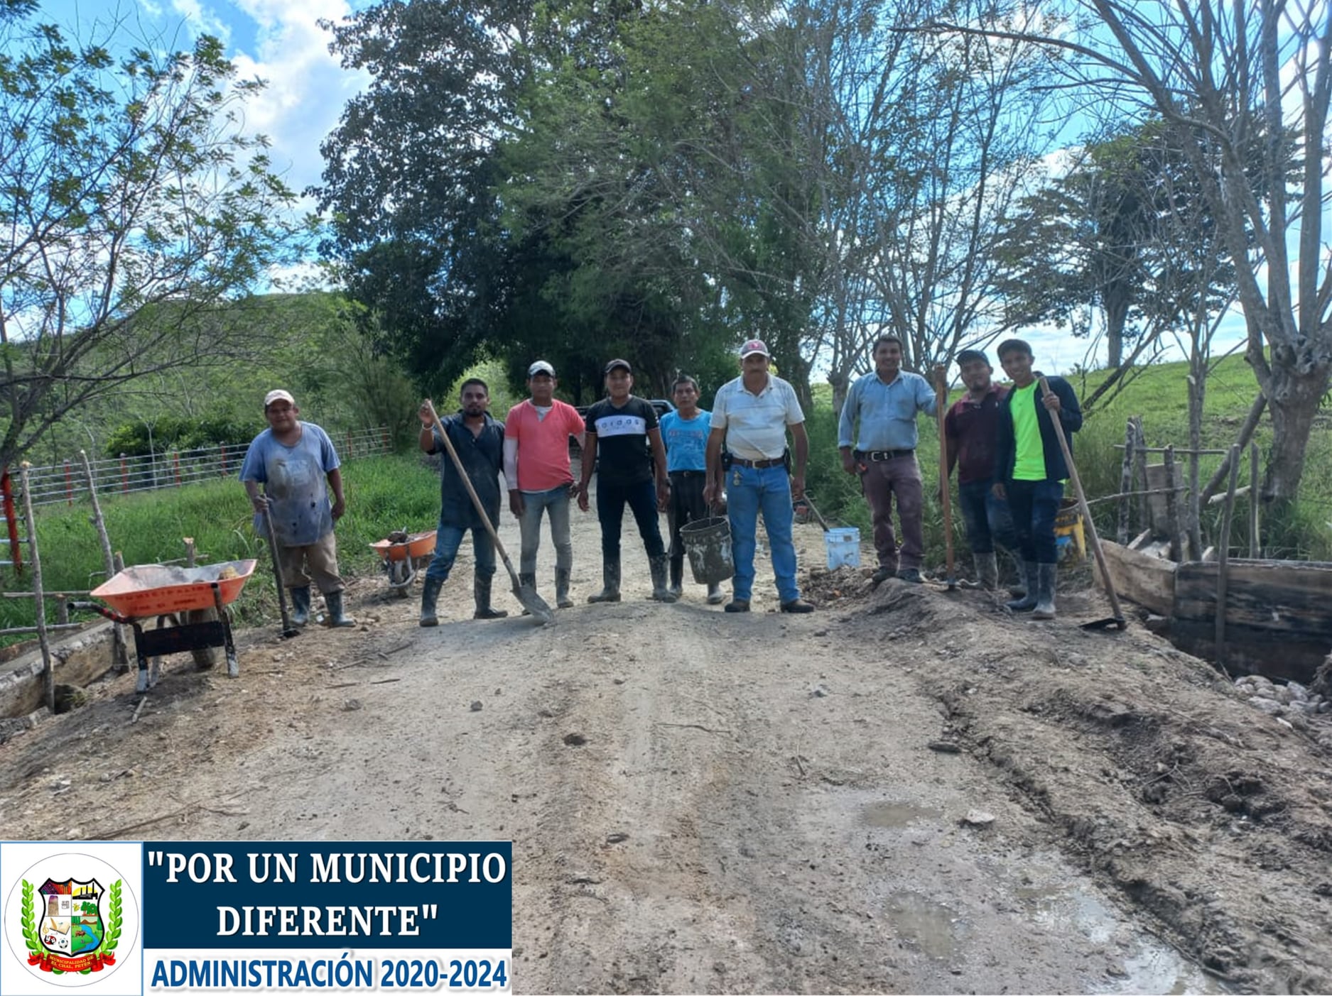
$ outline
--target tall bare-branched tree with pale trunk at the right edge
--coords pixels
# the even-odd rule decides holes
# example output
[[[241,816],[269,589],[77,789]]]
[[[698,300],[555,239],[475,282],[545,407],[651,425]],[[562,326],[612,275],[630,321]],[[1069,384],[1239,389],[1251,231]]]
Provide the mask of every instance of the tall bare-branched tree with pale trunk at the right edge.
[[[1332,197],[1332,7],[1075,5],[1095,15],[1088,31],[1039,40],[1063,51],[1076,83],[1102,101],[1159,115],[1181,149],[1235,262],[1245,358],[1271,410],[1263,498],[1295,501],[1332,379],[1332,258],[1323,236]]]

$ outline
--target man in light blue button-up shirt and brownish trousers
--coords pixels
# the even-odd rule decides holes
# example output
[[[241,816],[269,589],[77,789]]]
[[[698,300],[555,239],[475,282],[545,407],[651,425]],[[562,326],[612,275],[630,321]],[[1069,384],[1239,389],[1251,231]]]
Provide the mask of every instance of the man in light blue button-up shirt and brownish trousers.
[[[922,582],[924,495],[915,457],[916,415],[932,415],[936,405],[928,381],[902,369],[902,340],[880,336],[874,344],[874,370],[851,385],[838,425],[842,469],[860,475],[860,490],[874,513],[875,587],[894,574]],[[894,497],[902,519],[900,551],[892,531]]]

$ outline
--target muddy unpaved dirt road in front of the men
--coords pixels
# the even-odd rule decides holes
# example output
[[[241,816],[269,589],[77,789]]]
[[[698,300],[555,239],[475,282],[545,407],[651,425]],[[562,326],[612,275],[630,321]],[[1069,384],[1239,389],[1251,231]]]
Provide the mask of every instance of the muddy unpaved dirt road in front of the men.
[[[785,617],[763,562],[727,617],[646,601],[637,542],[583,605],[575,513],[553,626],[472,622],[464,557],[436,630],[366,579],[362,628],[246,632],[238,680],[173,659],[137,723],[97,686],[0,746],[0,834],[511,839],[519,992],[1332,991],[1317,730],[1078,630],[1096,593],[1039,624],[843,569]]]

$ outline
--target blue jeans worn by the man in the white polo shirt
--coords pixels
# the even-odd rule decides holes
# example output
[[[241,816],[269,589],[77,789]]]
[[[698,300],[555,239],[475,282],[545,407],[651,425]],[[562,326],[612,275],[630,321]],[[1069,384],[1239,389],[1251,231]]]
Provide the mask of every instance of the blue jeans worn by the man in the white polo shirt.
[[[767,545],[773,550],[773,574],[777,594],[786,602],[801,597],[795,583],[795,543],[791,542],[791,478],[786,467],[731,467],[726,471],[726,509],[731,521],[731,559],[735,577],[734,598],[749,602],[754,594],[754,546],[758,514],[763,513]]]

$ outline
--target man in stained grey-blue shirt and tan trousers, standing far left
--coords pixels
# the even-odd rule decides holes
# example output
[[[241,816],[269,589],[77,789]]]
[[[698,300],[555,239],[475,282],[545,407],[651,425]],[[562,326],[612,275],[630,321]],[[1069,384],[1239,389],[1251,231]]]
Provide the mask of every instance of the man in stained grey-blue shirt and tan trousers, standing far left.
[[[346,511],[337,450],[328,433],[313,422],[298,421],[298,414],[301,410],[288,391],[268,393],[264,398],[268,429],[250,442],[241,465],[241,482],[254,506],[256,530],[264,529],[265,509],[273,525],[282,583],[292,593],[292,622],[304,626],[310,621],[313,582],[324,593],[328,624],[356,626],[356,619],[342,611],[346,585],[337,570],[333,534],[333,525]]]

